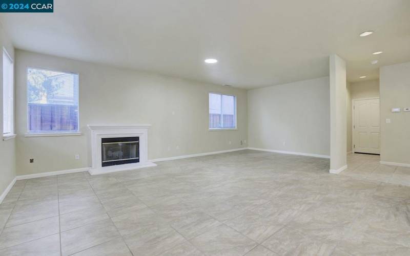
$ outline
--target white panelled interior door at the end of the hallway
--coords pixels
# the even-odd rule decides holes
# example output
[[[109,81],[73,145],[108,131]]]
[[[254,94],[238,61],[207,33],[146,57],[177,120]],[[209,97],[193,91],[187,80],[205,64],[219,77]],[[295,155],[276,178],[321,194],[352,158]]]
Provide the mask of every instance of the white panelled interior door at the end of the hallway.
[[[380,154],[380,99],[354,100],[353,151]]]

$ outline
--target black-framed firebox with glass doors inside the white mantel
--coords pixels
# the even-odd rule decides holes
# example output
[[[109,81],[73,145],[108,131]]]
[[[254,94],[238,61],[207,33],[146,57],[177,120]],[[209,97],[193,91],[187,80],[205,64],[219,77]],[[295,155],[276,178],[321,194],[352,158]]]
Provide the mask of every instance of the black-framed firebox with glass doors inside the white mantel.
[[[101,166],[139,162],[139,137],[101,138]]]

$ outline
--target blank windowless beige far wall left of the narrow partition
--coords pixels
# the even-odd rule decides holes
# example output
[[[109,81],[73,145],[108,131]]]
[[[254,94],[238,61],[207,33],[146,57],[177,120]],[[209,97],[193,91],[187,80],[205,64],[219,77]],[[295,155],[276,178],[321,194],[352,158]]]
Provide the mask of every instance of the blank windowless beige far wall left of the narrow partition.
[[[329,155],[329,77],[248,91],[249,146]]]

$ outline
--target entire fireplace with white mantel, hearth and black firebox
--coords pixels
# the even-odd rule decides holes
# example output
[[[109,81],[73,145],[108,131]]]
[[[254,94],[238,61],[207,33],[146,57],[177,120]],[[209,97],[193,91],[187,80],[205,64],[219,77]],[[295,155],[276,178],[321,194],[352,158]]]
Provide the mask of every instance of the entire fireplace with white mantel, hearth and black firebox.
[[[150,124],[88,125],[91,131],[91,175],[156,166],[148,161]]]

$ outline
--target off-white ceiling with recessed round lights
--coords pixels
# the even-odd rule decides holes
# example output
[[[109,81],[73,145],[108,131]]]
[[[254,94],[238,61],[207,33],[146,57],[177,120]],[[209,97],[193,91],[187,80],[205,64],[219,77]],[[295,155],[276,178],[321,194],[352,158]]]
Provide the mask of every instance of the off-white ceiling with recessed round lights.
[[[409,0],[54,4],[52,14],[1,14],[16,48],[247,89],[327,76],[331,53],[347,61],[351,82],[410,61]],[[366,30],[375,33],[359,37]]]

